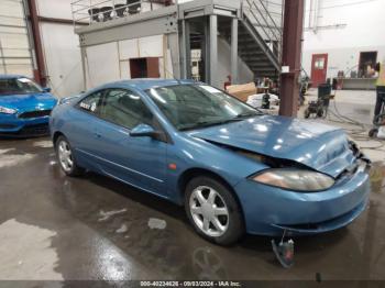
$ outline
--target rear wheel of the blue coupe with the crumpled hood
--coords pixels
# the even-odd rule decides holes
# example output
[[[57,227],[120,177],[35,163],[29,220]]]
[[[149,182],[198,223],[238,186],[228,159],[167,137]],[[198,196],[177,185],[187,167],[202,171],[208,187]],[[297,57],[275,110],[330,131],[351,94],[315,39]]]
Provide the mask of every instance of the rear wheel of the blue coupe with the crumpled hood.
[[[63,171],[68,176],[80,176],[85,169],[79,167],[73,154],[73,148],[65,136],[59,136],[55,143],[57,159]]]

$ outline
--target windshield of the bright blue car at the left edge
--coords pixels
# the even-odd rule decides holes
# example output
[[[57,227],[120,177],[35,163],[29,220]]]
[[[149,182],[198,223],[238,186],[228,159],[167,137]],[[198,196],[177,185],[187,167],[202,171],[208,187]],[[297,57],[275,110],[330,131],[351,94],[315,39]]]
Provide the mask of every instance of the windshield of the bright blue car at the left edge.
[[[42,88],[28,78],[0,79],[0,96],[41,93]]]

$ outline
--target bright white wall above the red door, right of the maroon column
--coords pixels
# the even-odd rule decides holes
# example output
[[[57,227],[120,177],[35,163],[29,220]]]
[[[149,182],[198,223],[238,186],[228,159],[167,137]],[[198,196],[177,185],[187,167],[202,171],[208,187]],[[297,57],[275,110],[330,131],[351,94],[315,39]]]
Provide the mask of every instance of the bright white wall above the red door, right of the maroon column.
[[[358,70],[361,52],[377,51],[378,60],[385,57],[385,1],[318,0],[318,13],[315,7],[310,11],[310,1],[306,0],[302,53],[309,75],[312,54],[329,54],[327,77],[336,77],[339,70]],[[312,1],[315,5],[317,1]]]

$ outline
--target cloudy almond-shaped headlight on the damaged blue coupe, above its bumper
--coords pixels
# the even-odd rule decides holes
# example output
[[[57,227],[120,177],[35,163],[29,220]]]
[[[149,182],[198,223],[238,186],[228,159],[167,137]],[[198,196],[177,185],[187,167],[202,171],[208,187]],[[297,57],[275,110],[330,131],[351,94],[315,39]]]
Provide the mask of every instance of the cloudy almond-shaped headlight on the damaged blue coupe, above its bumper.
[[[252,177],[254,181],[300,192],[327,190],[334,179],[317,171],[301,169],[268,169]]]

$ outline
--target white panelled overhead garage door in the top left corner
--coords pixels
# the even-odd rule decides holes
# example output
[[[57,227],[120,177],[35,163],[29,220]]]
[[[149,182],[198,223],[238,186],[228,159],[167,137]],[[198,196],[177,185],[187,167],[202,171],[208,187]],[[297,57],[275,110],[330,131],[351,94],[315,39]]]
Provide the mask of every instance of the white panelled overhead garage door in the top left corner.
[[[0,74],[33,77],[33,62],[22,0],[0,1]]]

